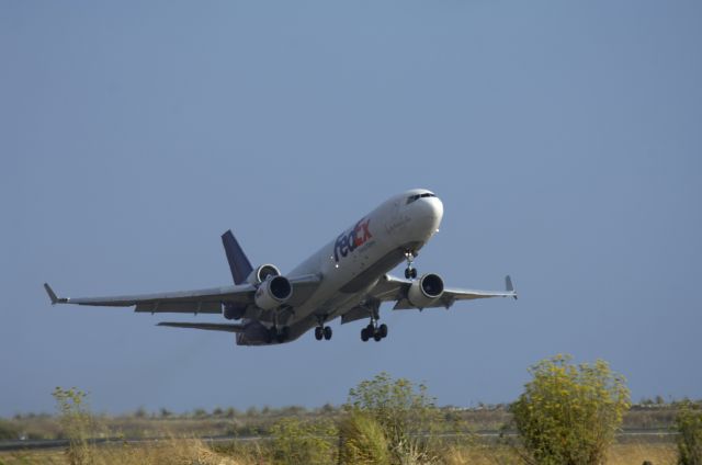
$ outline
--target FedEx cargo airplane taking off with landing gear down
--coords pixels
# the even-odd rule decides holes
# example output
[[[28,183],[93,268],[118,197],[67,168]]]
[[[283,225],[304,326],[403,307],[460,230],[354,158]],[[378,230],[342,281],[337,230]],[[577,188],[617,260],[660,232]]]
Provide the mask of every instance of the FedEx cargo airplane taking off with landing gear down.
[[[115,297],[58,297],[44,288],[52,304],[135,307],[138,313],[220,314],[239,322],[173,322],[158,326],[236,333],[237,345],[269,345],[298,339],[314,328],[315,339],[330,340],[327,324],[369,319],[361,340],[381,341],[387,325],[378,324],[381,304],[395,310],[444,307],[457,300],[513,297],[509,275],[503,292],[445,287],[439,274],[418,277],[414,260],[439,231],[443,203],[431,191],[414,189],[395,195],[356,220],[286,275],[273,264],[251,266],[231,230],[222,235],[234,285],[161,294]],[[390,270],[406,262],[405,279]]]

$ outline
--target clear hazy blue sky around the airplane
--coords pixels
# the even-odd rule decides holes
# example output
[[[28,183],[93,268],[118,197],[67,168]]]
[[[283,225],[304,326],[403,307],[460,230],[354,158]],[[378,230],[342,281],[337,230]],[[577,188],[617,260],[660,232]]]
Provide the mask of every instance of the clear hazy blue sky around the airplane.
[[[604,359],[635,399],[702,397],[697,1],[0,5],[0,416],[340,404],[381,371],[511,401],[539,360]],[[67,296],[283,271],[386,197],[445,207],[417,265],[520,299],[383,310],[273,348]],[[398,270],[401,273],[401,270]],[[199,316],[197,321],[218,320]]]

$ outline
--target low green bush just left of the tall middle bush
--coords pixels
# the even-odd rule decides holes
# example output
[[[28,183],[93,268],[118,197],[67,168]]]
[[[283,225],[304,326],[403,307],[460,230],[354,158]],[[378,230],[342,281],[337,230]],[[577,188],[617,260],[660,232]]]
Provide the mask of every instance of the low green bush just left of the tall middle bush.
[[[332,423],[306,423],[284,418],[271,428],[273,462],[279,465],[322,465],[333,463],[337,435]]]

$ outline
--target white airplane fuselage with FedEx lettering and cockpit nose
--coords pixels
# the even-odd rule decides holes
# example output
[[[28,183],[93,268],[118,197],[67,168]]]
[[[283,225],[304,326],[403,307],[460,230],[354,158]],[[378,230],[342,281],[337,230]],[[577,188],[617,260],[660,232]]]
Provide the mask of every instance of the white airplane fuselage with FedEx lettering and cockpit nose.
[[[290,340],[321,321],[364,305],[364,297],[385,273],[417,253],[438,231],[443,204],[430,191],[417,189],[394,196],[353,223],[290,273],[317,274],[317,290],[286,320]],[[237,343],[248,344],[246,334]]]

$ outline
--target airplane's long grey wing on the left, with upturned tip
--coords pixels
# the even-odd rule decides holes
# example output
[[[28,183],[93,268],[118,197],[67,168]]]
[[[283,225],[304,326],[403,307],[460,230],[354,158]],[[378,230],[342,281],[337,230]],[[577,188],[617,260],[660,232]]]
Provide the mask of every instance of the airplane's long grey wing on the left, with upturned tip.
[[[293,285],[291,305],[307,298],[319,284],[319,276],[304,275],[290,279]],[[52,304],[76,304],[100,307],[135,307],[135,311],[220,314],[222,304],[241,308],[256,307],[256,287],[250,284],[212,287],[197,291],[179,291],[160,294],[121,295],[112,297],[58,297],[48,284],[44,284]]]

